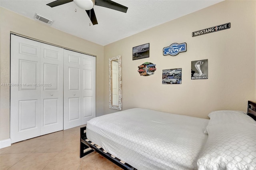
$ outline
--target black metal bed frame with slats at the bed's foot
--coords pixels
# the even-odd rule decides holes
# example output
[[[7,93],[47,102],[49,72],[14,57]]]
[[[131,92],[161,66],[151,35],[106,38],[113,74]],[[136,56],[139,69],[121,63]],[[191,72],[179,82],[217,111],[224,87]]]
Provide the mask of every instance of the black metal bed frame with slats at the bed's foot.
[[[104,156],[114,164],[123,168],[124,170],[137,170],[136,168],[132,167],[126,162],[108,153],[102,147],[88,140],[88,138],[86,137],[86,127],[81,127],[80,128],[80,158],[92,153],[93,151],[98,152],[99,154],[101,154],[102,156]]]

